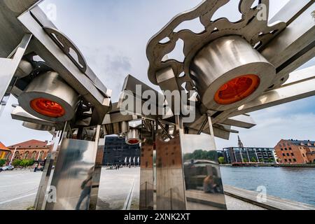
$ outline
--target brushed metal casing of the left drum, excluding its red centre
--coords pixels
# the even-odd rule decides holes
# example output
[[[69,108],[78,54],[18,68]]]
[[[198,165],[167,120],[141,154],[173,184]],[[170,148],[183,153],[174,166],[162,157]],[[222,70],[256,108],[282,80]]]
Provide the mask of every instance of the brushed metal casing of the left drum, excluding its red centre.
[[[55,71],[48,71],[34,78],[29,83],[20,97],[18,102],[20,106],[28,113],[43,120],[49,120],[55,123],[62,123],[71,120],[78,106],[78,93],[73,90]],[[56,102],[64,109],[65,113],[60,117],[45,116],[31,107],[34,99],[49,99]]]

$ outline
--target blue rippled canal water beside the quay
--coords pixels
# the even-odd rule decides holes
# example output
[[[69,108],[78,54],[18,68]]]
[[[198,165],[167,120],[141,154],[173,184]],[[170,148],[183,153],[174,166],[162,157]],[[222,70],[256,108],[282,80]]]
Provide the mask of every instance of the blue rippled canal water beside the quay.
[[[221,167],[224,185],[315,205],[315,167]]]

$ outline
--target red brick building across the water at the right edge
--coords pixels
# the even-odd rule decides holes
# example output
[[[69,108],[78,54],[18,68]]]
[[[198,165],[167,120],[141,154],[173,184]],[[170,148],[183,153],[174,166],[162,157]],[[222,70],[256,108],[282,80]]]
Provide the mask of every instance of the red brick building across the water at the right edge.
[[[274,147],[281,164],[305,164],[315,162],[315,141],[281,139]]]

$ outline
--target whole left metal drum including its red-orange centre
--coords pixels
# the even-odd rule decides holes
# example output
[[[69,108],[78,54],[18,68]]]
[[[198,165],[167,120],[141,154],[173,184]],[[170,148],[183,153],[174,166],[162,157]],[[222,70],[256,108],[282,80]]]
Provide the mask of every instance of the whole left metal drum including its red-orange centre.
[[[29,83],[18,102],[25,111],[37,118],[62,123],[74,117],[78,97],[78,93],[58,73],[48,71]]]

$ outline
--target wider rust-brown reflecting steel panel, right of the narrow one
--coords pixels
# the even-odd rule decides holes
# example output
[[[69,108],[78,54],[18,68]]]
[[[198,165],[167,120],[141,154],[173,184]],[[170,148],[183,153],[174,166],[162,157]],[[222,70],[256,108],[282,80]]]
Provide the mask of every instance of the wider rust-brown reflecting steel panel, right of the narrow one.
[[[165,141],[163,133],[155,134],[156,209],[185,210],[183,160],[179,134]]]

